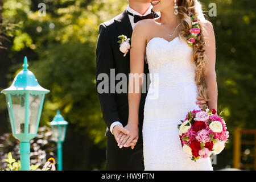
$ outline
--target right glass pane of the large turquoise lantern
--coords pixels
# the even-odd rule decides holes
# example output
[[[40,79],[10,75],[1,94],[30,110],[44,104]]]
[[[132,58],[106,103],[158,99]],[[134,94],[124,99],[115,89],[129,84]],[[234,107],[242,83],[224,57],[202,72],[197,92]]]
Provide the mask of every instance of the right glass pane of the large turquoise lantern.
[[[40,106],[42,103],[42,94],[40,95],[31,95],[29,98],[29,123],[30,123],[30,131],[29,133],[31,134],[36,134],[37,133],[37,127],[38,127],[38,117],[40,113]]]

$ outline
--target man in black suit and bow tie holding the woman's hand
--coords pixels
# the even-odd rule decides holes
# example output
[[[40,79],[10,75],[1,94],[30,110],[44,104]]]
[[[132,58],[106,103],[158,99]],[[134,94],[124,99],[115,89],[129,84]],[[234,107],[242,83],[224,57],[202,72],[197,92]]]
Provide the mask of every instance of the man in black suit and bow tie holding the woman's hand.
[[[119,134],[127,134],[125,129],[128,121],[129,107],[128,94],[112,93],[115,90],[115,84],[110,84],[110,75],[124,73],[127,78],[130,72],[130,53],[126,56],[119,51],[118,36],[125,35],[131,38],[135,23],[141,19],[157,18],[158,14],[152,11],[150,0],[128,0],[129,5],[123,13],[115,18],[100,24],[100,35],[96,49],[96,88],[102,81],[98,76],[101,73],[108,75],[108,93],[98,93],[102,115],[107,129],[105,136],[108,137],[106,146],[106,170],[144,170],[143,164],[143,143],[142,143],[142,124],[143,109],[146,99],[146,93],[141,94],[141,103],[139,106],[139,139],[133,140],[129,146],[118,146]],[[112,72],[111,72],[112,70]],[[144,73],[149,73],[148,65],[144,64]],[[103,80],[106,81],[106,80]],[[147,80],[144,80],[146,83]],[[99,85],[100,86],[100,85]],[[105,90],[105,88],[104,88]],[[206,105],[206,101],[197,99],[197,104]]]

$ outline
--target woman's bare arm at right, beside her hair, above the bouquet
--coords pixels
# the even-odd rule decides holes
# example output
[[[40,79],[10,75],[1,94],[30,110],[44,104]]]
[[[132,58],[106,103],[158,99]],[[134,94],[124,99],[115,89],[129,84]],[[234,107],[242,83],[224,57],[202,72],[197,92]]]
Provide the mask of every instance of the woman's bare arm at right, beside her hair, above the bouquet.
[[[215,72],[216,62],[216,44],[213,26],[210,22],[204,24],[205,28],[205,55],[207,55],[207,63],[205,64],[205,81],[208,88],[208,106],[210,109],[217,110],[218,89]]]

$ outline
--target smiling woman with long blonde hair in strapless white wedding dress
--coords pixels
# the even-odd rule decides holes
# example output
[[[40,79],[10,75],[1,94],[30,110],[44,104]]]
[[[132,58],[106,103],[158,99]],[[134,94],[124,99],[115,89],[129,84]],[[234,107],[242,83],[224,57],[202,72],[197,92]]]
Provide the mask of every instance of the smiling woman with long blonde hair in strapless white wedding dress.
[[[212,24],[205,20],[197,0],[155,0],[154,11],[160,18],[138,22],[131,38],[130,73],[143,73],[144,56],[151,75],[144,105],[143,155],[145,170],[212,170],[210,158],[192,161],[184,154],[177,124],[196,105],[196,97],[208,101],[217,110],[215,72],[215,38]],[[191,16],[198,17],[201,32],[193,45],[187,37],[192,27]],[[133,80],[129,79],[129,88]],[[157,85],[157,86],[153,86]],[[142,80],[139,88],[142,87]],[[134,88],[134,87],[133,87]],[[129,139],[138,139],[138,110],[141,92],[129,90]]]

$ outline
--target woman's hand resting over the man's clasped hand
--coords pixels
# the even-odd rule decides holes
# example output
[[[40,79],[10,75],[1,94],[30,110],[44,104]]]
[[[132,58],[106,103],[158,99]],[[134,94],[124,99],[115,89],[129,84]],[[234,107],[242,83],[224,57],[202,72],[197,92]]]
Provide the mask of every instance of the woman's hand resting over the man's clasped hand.
[[[125,129],[129,130],[130,132],[127,135],[118,136],[118,146],[119,148],[131,146],[131,149],[133,149],[139,138],[138,125],[128,122]]]

